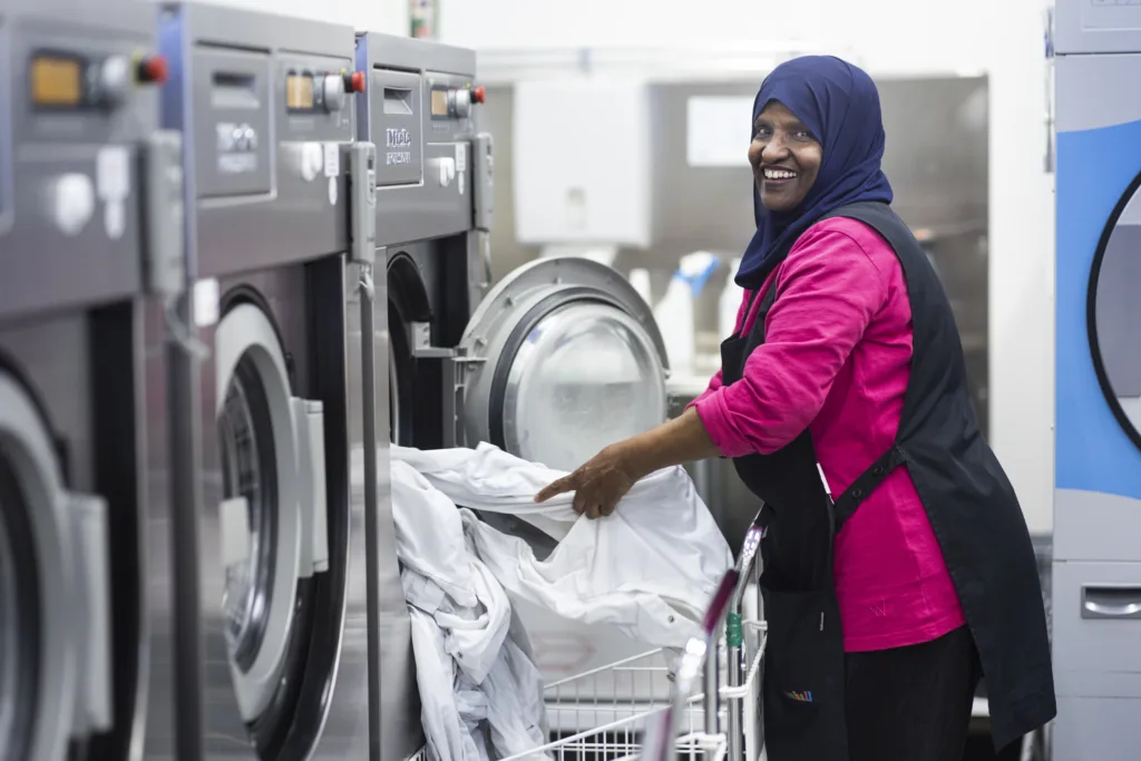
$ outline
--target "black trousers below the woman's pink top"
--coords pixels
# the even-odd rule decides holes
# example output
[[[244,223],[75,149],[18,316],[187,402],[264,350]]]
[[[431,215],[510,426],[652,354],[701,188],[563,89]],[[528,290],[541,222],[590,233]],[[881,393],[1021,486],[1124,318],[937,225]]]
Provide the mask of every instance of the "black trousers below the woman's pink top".
[[[850,761],[962,761],[981,670],[966,626],[844,657]]]

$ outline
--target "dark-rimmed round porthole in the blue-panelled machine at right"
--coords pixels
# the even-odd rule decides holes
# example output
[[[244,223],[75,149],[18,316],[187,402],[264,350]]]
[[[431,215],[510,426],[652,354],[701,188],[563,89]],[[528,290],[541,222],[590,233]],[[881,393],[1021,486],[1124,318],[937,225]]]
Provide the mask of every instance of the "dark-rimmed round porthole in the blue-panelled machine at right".
[[[1114,211],[1094,254],[1087,321],[1101,389],[1141,447],[1141,176]]]

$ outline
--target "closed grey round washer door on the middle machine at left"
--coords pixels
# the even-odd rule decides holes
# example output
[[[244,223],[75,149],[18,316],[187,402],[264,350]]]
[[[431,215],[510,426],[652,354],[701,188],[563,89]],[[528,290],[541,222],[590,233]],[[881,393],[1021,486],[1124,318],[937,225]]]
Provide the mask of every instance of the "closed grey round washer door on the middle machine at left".
[[[298,643],[313,606],[299,592],[329,568],[323,414],[291,395],[281,341],[258,306],[226,313],[215,353],[219,557],[204,568],[204,594],[221,604],[237,712],[268,753],[285,742],[304,671]]]

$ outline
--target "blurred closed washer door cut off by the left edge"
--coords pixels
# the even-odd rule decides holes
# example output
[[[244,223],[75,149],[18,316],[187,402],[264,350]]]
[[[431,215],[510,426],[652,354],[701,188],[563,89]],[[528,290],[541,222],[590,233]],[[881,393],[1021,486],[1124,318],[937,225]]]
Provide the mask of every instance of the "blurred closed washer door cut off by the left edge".
[[[107,510],[64,489],[31,396],[0,371],[0,759],[60,761],[112,726]]]

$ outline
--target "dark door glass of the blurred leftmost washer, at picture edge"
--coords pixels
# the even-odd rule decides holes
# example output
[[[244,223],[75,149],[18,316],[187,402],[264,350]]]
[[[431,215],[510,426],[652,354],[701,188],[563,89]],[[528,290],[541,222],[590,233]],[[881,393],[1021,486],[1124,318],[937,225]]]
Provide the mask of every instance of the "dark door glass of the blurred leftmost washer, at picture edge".
[[[2,458],[2,455],[0,455]],[[29,505],[0,459],[0,759],[27,754],[39,695],[39,608]]]

